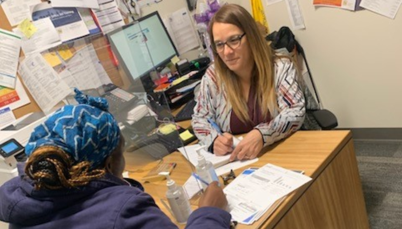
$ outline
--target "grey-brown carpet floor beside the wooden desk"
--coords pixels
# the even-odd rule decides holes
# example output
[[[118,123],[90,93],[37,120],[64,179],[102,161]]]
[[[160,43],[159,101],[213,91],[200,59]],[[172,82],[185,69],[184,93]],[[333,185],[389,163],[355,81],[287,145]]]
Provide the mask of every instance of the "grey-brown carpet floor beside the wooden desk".
[[[354,142],[371,229],[402,228],[402,141]]]

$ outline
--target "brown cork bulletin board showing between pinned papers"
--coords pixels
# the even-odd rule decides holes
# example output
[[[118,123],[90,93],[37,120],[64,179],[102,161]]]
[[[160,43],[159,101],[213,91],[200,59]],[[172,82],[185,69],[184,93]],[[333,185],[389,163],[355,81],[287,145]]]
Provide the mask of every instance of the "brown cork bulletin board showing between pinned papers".
[[[8,22],[8,19],[6,17],[6,14],[4,13],[4,10],[2,7],[0,7],[0,28],[5,29],[7,31],[12,31],[12,28],[13,28],[13,27],[11,27],[10,23]],[[111,81],[113,82],[113,84],[120,86],[122,88],[127,87],[127,85],[126,85],[127,83],[125,84],[125,82],[128,82],[127,78],[126,78],[125,74],[123,73],[123,71],[121,70],[121,68],[117,67],[115,65],[114,61],[111,59],[111,54],[109,51],[110,45],[107,41],[107,38],[103,34],[92,35],[91,37],[82,37],[79,40],[81,40],[81,42],[74,42],[74,43],[79,43],[79,45],[82,45],[83,43],[84,44],[92,43],[100,63],[102,64],[103,68],[107,72],[107,74],[108,74],[109,78],[111,79]],[[78,48],[79,47],[77,47],[77,45],[73,45],[71,48],[72,53],[74,53],[74,51],[78,50]],[[22,51],[20,53],[20,57],[21,58],[24,57]],[[20,76],[18,76],[18,77],[21,80],[21,77]],[[22,80],[21,80],[21,82],[22,82]],[[13,110],[14,116],[16,117],[16,119],[18,119],[19,117],[22,117],[28,113],[31,113],[31,112],[41,111],[38,104],[35,102],[35,100],[31,96],[31,94],[25,87],[25,85],[23,85],[23,86],[24,86],[25,91],[28,94],[28,97],[29,97],[29,100],[31,101],[31,103]]]

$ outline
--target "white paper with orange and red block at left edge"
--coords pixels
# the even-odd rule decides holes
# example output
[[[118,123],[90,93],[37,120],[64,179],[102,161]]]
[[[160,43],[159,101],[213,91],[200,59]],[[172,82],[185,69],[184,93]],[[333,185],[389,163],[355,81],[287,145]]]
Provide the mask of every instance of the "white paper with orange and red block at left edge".
[[[0,107],[10,106],[11,110],[31,103],[18,77],[15,83],[15,89],[0,87],[0,95]]]

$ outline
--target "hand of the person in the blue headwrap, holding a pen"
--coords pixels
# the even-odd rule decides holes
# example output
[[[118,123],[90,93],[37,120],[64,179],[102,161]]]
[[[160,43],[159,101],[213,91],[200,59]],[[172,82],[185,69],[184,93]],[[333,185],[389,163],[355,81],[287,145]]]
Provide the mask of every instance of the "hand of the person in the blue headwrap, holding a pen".
[[[204,194],[198,201],[198,207],[217,207],[226,210],[228,200],[218,182],[214,181],[208,185]]]

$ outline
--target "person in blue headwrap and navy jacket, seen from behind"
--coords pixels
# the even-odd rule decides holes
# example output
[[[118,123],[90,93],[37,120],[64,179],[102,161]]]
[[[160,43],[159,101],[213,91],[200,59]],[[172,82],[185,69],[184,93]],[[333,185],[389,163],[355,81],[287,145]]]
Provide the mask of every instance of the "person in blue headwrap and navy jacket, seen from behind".
[[[25,173],[0,187],[0,220],[10,228],[177,228],[141,184],[124,179],[124,138],[104,98],[76,90],[67,105],[35,128]],[[208,186],[187,228],[229,228],[227,200]]]

